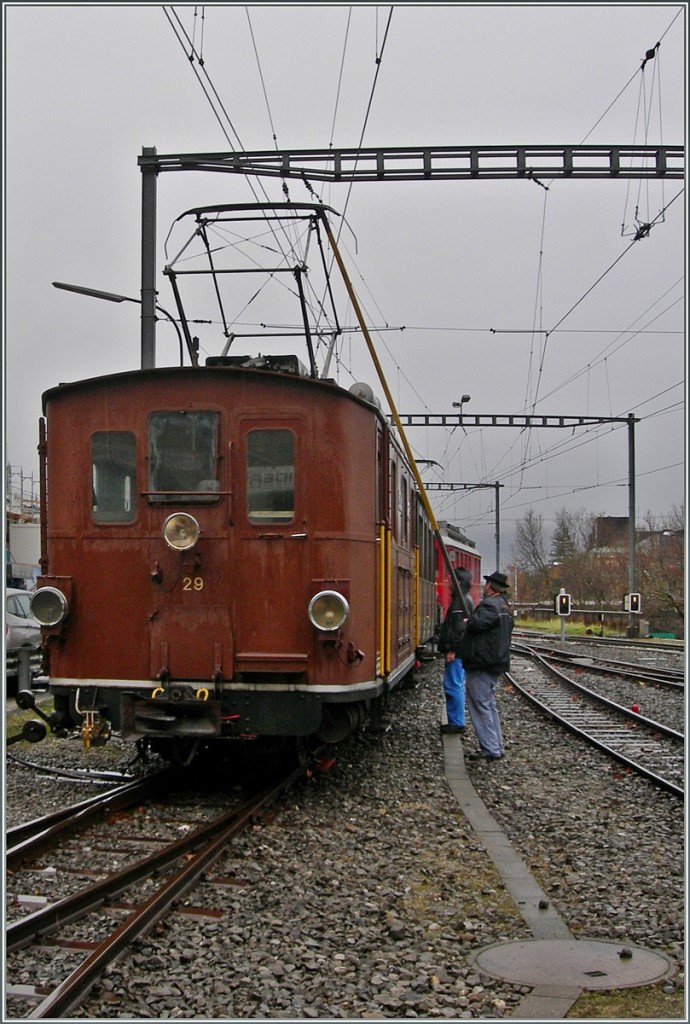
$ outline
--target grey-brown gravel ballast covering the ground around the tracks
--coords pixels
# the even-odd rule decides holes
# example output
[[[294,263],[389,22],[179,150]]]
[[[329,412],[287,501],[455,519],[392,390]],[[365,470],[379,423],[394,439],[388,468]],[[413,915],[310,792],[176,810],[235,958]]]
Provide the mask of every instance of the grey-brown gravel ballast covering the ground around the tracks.
[[[222,916],[173,914],[75,1016],[517,1015],[529,989],[482,975],[472,954],[531,933],[443,774],[442,662],[416,678],[392,694],[387,732],[341,744],[331,771],[293,790],[185,899]],[[669,986],[682,985],[681,802],[557,731],[509,685],[499,702],[507,756],[468,765],[477,793],[574,936],[663,952],[681,969]],[[469,725],[449,741],[476,748]],[[88,758],[73,741],[13,751],[110,769],[131,757],[118,741]],[[5,792],[7,825],[89,795],[11,761]]]

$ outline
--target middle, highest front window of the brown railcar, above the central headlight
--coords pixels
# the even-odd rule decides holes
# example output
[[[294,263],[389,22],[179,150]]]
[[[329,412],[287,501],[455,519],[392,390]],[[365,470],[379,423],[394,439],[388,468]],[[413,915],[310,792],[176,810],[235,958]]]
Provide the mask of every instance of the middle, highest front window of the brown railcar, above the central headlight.
[[[217,500],[218,415],[165,412],[148,418],[149,501]]]

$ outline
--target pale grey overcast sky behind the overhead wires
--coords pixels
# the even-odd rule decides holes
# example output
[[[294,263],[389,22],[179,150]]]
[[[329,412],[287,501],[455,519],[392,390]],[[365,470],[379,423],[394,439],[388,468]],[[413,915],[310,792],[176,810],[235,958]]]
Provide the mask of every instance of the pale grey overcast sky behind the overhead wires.
[[[175,13],[203,69],[183,52]],[[687,4],[10,3],[3,15],[5,461],[27,475],[38,474],[43,391],[139,365],[136,304],[51,282],[138,297],[143,146],[685,142]],[[222,126],[196,72],[222,102]],[[285,198],[278,180],[261,183],[271,200]],[[252,188],[256,179],[239,175],[161,175],[161,267],[180,213],[250,202]],[[638,519],[683,504],[682,180],[315,189],[346,212],[349,269],[371,322],[404,328],[375,335],[401,414],[452,413],[463,394],[468,414],[635,413]],[[310,199],[300,182],[289,190]],[[632,244],[637,223],[654,226]],[[163,276],[159,289],[173,306]],[[164,324],[158,333],[158,364],[172,365],[174,337]],[[340,383],[368,380],[380,393],[363,341],[348,345]],[[441,464],[425,479],[503,484],[506,564],[528,508],[549,528],[563,507],[628,514],[624,426],[411,427],[408,438],[421,459]],[[494,494],[430,495],[437,517],[477,542],[489,570]]]

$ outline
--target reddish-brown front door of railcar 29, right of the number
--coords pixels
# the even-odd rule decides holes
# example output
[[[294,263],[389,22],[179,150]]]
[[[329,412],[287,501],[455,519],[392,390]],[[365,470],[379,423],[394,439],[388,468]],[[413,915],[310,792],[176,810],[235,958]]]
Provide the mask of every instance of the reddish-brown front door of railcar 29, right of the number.
[[[238,450],[234,624],[238,673],[307,669],[309,556],[298,420],[243,420]]]

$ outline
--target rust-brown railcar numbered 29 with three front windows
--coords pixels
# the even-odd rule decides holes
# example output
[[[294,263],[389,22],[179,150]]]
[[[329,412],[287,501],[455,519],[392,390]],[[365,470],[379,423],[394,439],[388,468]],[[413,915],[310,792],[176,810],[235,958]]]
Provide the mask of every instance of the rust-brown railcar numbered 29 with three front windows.
[[[33,610],[87,743],[339,739],[433,633],[433,534],[377,406],[296,358],[208,361],[44,395]]]

